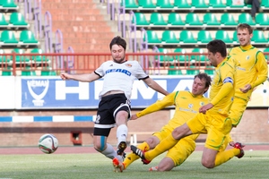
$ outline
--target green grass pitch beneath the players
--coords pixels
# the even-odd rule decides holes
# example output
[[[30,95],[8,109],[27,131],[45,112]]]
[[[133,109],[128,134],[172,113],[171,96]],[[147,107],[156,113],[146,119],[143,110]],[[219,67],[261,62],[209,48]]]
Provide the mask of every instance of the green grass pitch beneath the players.
[[[268,178],[269,151],[245,151],[245,153],[244,158],[232,158],[221,166],[207,169],[200,162],[202,152],[195,151],[183,165],[170,172],[149,172],[149,167],[156,166],[164,157],[161,155],[147,166],[136,160],[123,173],[114,173],[111,160],[99,153],[0,155],[0,179]]]

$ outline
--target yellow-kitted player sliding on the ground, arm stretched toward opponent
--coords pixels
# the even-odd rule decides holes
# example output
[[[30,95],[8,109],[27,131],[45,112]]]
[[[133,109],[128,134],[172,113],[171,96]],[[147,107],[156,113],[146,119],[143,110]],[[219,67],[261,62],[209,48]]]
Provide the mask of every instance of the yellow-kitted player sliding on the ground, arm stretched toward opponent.
[[[178,125],[187,122],[187,119],[195,116],[199,113],[199,108],[204,104],[209,103],[209,98],[204,98],[204,93],[209,89],[211,85],[211,77],[206,73],[199,73],[195,75],[192,91],[182,90],[174,91],[162,100],[158,100],[156,103],[145,108],[143,111],[132,115],[131,120],[135,120],[138,117],[159,111],[164,107],[170,107],[175,105],[175,114],[169,123],[164,125],[159,132],[153,133],[152,137],[144,141],[138,146],[139,149],[145,151],[153,149],[160,141],[166,138]],[[178,141],[178,144],[169,149],[166,158],[161,160],[161,163],[157,167],[159,171],[169,171],[175,166],[181,165],[187,157],[195,150],[195,139],[198,134],[187,136],[186,138]],[[118,161],[117,158],[113,159],[113,165],[118,168],[119,171],[126,169],[134,160],[138,159],[134,153],[129,154],[123,163]]]

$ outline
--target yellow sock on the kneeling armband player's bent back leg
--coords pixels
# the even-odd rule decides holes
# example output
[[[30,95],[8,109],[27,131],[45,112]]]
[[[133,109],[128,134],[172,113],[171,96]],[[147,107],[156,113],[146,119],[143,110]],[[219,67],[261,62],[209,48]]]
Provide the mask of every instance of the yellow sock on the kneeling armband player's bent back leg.
[[[220,166],[221,164],[230,160],[230,158],[233,158],[239,155],[239,153],[240,153],[239,149],[229,149],[229,150],[218,152],[215,159],[215,166]]]

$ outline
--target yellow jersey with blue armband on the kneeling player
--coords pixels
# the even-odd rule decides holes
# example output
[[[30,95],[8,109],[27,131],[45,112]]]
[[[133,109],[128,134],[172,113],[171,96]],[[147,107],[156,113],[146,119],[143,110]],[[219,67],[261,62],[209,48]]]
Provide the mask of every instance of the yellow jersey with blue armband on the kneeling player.
[[[228,116],[234,98],[235,63],[228,56],[215,68],[209,97],[213,104],[210,112]]]

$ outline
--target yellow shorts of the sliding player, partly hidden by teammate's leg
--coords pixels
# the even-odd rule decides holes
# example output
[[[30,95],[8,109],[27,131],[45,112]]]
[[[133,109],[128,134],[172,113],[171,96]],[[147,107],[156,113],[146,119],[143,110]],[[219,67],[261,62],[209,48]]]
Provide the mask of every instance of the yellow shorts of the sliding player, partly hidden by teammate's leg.
[[[169,136],[173,130],[173,127],[165,125],[161,128],[160,132],[155,132],[153,135],[162,141]],[[197,137],[198,134],[193,134],[181,139],[173,148],[168,150],[166,157],[171,158],[175,166],[180,166],[195,151],[195,139]]]

